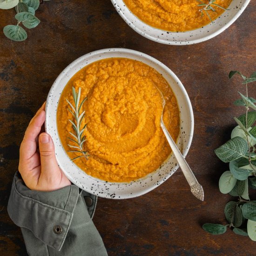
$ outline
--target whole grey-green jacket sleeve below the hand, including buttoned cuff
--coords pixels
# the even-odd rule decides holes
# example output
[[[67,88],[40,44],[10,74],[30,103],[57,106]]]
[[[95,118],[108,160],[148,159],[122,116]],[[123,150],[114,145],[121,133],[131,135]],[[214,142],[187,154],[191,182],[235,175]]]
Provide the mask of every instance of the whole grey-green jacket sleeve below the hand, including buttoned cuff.
[[[31,256],[107,256],[91,219],[96,202],[96,196],[75,185],[52,192],[30,190],[17,172],[7,210]]]

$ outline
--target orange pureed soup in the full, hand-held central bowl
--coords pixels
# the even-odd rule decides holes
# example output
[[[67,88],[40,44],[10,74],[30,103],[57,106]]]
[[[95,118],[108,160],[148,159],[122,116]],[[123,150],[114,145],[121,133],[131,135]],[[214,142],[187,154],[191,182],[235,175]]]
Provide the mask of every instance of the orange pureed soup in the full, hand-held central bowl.
[[[160,127],[162,99],[166,100],[163,120],[176,141],[179,135],[179,108],[167,81],[154,68],[131,59],[112,58],[96,61],[77,72],[64,88],[57,110],[57,126],[66,151],[69,132],[74,128],[68,119],[74,116],[66,99],[74,102],[72,87],[81,100],[88,97],[81,127],[89,157],[73,160],[88,175],[108,182],[129,182],[155,171],[171,153]],[[74,138],[73,138],[74,139]],[[67,152],[72,159],[81,155]]]

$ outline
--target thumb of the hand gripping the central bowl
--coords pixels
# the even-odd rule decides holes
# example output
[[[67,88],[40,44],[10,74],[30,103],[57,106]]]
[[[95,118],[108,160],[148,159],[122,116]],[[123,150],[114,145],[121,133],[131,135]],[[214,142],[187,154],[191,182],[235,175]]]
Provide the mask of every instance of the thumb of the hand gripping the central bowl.
[[[55,157],[54,142],[47,133],[41,133],[39,136],[39,150],[42,173],[47,174],[49,172],[53,174],[56,169],[59,170]]]

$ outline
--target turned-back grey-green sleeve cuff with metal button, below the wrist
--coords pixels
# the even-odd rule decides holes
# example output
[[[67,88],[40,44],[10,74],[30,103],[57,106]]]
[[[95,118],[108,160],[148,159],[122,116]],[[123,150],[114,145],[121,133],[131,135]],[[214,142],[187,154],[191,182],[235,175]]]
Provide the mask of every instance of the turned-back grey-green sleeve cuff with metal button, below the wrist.
[[[8,214],[17,226],[31,230],[43,243],[60,250],[73,219],[79,194],[79,189],[74,185],[52,192],[30,190],[16,173],[7,207]],[[59,226],[59,232],[56,232],[56,226]]]

